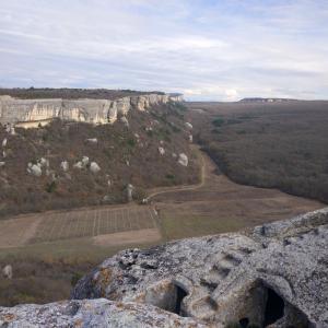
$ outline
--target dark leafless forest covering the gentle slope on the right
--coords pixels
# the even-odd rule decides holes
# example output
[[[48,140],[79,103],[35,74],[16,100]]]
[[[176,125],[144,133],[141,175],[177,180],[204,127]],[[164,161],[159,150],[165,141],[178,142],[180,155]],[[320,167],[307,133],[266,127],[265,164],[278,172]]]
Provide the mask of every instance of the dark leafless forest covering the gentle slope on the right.
[[[188,107],[197,142],[229,178],[328,203],[328,102]]]

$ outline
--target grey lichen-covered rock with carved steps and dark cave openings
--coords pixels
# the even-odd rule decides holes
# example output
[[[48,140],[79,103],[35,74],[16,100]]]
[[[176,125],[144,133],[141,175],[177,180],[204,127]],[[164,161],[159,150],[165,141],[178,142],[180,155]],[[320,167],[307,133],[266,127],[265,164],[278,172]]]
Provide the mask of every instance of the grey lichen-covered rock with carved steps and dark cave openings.
[[[324,209],[248,233],[124,250],[84,277],[72,297],[149,303],[215,327],[241,319],[259,327],[328,327],[327,263]],[[104,285],[98,272],[109,268]],[[268,313],[270,302],[282,304],[281,316]]]

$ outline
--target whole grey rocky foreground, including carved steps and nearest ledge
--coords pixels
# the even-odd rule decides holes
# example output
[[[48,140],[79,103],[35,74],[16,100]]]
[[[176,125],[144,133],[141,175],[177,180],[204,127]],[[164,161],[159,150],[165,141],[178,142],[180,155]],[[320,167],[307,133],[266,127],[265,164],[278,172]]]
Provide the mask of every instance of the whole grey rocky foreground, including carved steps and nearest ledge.
[[[0,327],[328,327],[328,208],[121,251],[72,298],[2,307]]]

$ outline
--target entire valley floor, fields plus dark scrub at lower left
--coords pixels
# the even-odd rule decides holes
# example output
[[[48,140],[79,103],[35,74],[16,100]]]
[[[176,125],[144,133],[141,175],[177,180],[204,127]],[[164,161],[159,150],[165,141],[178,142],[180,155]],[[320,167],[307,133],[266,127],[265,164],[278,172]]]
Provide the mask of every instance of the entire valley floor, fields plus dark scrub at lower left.
[[[26,297],[35,303],[66,298],[67,285],[75,271],[84,273],[120,249],[237,231],[325,207],[279,190],[237,185],[220,174],[207,154],[195,149],[203,163],[201,183],[152,190],[147,206],[51,211],[1,221],[0,266],[12,263],[14,278],[0,283],[0,304],[13,305],[26,302]],[[54,276],[47,273],[42,295],[28,295],[25,291],[31,276],[24,263],[31,260],[31,274],[36,284],[45,281],[43,270],[35,269],[38,263],[50,263],[54,270]],[[56,277],[56,266],[68,266],[60,279]],[[66,284],[60,289],[62,293],[58,289],[54,293],[49,281],[52,285]],[[10,298],[5,294],[9,289],[17,290],[21,296]]]

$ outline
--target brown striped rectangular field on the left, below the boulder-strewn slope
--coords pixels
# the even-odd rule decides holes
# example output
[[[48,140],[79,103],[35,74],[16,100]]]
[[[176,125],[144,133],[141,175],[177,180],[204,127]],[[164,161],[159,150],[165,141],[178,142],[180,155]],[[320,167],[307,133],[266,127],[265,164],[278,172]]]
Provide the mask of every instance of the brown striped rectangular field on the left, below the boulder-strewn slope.
[[[149,206],[99,208],[89,211],[47,213],[0,221],[0,248],[32,244],[48,244],[62,239],[87,238],[99,235],[127,233],[131,236],[139,231],[157,231],[157,221]],[[152,238],[153,233],[151,233]],[[131,237],[130,236],[130,237]],[[124,235],[124,238],[127,236]],[[138,241],[139,241],[138,239]]]

